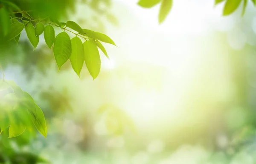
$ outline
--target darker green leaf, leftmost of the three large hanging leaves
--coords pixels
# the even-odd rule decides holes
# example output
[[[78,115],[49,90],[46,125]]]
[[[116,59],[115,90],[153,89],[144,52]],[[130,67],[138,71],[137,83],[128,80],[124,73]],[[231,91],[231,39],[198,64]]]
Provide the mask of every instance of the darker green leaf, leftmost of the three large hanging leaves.
[[[54,41],[53,53],[59,70],[67,62],[72,53],[71,40],[66,32],[57,35]]]

